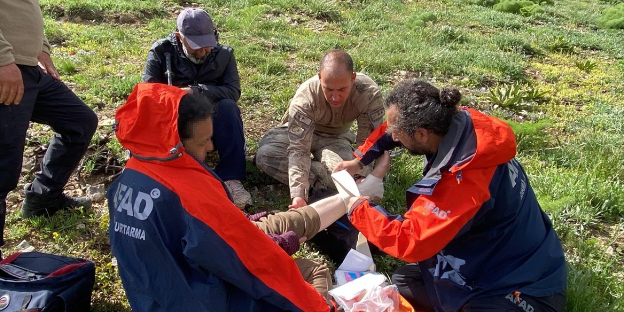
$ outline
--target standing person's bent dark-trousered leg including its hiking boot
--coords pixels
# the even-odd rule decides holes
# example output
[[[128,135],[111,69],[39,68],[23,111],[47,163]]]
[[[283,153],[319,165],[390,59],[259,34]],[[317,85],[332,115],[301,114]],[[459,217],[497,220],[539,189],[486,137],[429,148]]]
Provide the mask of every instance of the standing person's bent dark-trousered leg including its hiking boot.
[[[62,194],[69,177],[87,151],[97,128],[97,115],[65,84],[41,74],[39,94],[31,120],[50,125],[54,136],[41,170],[25,192],[22,215],[52,215],[59,209],[90,207],[87,198],[72,198]]]

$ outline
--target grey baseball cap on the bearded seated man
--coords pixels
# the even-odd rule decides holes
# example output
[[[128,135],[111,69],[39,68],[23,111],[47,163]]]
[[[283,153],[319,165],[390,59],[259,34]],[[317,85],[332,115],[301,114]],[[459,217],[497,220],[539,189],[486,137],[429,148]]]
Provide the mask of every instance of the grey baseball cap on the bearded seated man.
[[[187,7],[178,15],[178,31],[193,50],[216,47],[215,26],[206,11]]]

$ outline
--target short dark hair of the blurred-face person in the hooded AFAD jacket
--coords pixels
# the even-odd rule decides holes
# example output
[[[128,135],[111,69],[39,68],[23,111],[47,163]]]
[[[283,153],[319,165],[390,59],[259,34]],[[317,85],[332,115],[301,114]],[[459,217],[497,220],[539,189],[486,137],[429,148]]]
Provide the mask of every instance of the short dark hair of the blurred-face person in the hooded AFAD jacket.
[[[178,106],[178,135],[186,140],[193,136],[193,124],[215,114],[215,102],[204,94],[187,94]]]

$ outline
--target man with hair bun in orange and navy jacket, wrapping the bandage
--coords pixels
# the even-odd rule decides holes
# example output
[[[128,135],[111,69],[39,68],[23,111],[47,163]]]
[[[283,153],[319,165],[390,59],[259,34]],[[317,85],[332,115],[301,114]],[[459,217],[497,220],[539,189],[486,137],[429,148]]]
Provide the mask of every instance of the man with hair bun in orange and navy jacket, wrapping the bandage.
[[[390,92],[386,122],[336,170],[357,172],[403,145],[425,155],[423,177],[407,190],[403,216],[352,198],[348,217],[371,243],[411,263],[392,281],[416,310],[563,311],[563,249],[514,158],[514,132],[457,109],[460,99],[457,89],[419,80]]]

